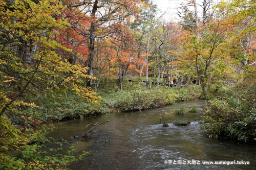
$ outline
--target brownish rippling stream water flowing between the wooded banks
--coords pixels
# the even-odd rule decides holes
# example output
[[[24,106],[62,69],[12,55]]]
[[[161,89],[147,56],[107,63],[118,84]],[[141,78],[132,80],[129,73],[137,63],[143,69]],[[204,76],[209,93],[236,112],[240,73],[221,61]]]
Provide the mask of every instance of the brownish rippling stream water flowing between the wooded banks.
[[[197,107],[197,113],[168,114],[179,108],[189,110],[193,106]],[[204,109],[204,101],[189,101],[141,112],[90,116],[59,123],[48,136],[69,139],[81,134],[90,123],[110,120],[109,124],[104,123],[93,129],[89,137],[71,140],[71,143],[78,142],[78,153],[92,151],[84,159],[70,165],[74,170],[256,169],[255,143],[209,138],[198,123],[202,120]],[[160,124],[160,115],[164,112],[169,127]],[[191,123],[174,126],[177,120]],[[203,161],[218,162],[203,164]],[[232,164],[227,165],[227,161]],[[241,164],[234,164],[233,161]],[[245,165],[247,161],[249,164]]]

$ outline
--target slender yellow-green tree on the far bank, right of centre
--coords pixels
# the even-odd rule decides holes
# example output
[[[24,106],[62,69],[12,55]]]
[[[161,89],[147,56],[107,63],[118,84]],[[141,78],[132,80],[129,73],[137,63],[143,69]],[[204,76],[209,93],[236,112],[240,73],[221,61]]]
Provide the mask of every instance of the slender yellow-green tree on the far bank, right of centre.
[[[195,71],[197,80],[200,81],[201,87],[208,101],[206,86],[210,84],[212,74],[217,71],[215,68],[221,62],[225,55],[223,49],[227,38],[225,23],[211,23],[199,38],[197,36],[188,36],[184,48],[185,65],[190,71]]]

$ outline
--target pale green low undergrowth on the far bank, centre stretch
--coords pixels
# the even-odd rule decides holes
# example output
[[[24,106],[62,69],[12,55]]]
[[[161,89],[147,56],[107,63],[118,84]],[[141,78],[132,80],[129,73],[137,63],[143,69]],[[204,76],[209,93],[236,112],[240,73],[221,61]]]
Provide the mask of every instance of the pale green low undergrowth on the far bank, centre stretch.
[[[115,81],[109,82],[114,83]],[[109,85],[105,84],[105,86]],[[114,89],[106,92],[106,90],[99,89],[99,95],[102,97],[103,104],[110,110],[134,111],[159,108],[177,101],[198,99],[202,93],[200,87],[196,87],[190,95],[187,95],[188,91],[186,87],[160,86],[157,89],[157,86],[154,85],[145,91],[145,84],[141,83],[139,79],[134,79],[133,82],[123,82],[123,91]]]

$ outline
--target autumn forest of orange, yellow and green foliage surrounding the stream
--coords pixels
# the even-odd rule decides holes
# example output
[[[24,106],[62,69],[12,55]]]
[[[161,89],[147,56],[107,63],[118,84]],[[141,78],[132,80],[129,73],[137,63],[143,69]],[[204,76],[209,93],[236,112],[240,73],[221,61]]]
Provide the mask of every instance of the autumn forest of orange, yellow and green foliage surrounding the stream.
[[[255,140],[255,1],[183,1],[178,22],[159,11],[146,0],[1,0],[1,150],[44,141],[20,129],[194,99],[208,102],[210,136]],[[30,151],[2,154],[0,168],[36,169]]]

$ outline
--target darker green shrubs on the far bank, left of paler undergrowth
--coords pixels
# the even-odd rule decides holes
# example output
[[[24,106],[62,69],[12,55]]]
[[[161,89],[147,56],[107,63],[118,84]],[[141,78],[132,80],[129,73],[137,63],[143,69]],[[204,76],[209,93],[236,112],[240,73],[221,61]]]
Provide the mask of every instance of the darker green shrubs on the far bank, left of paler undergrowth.
[[[109,113],[106,105],[87,103],[73,91],[58,94],[57,97],[56,94],[40,92],[37,96],[25,95],[25,102],[35,103],[39,107],[17,107],[17,112],[10,112],[6,115],[13,125],[31,128],[44,123],[57,122],[63,118],[83,118],[93,114]]]

